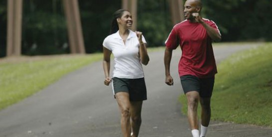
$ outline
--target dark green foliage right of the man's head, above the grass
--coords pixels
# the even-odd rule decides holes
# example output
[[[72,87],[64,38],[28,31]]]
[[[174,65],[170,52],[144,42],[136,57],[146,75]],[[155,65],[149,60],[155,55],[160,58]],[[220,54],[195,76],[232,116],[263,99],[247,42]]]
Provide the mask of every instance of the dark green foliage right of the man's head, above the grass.
[[[204,13],[221,30],[223,41],[272,40],[271,0],[203,0]]]

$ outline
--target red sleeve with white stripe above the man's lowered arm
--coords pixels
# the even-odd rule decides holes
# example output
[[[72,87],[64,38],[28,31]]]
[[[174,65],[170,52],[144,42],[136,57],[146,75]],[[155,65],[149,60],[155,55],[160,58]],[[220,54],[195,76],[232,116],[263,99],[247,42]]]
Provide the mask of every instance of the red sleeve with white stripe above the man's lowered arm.
[[[169,49],[176,49],[179,45],[178,34],[175,30],[175,27],[171,30],[168,38],[165,41],[165,45]]]

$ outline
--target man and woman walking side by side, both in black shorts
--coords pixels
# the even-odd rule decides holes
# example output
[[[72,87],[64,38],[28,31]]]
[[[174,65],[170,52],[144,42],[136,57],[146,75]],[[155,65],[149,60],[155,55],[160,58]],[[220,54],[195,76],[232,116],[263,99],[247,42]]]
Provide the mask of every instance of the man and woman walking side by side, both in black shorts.
[[[188,120],[193,137],[205,137],[210,123],[210,102],[217,73],[212,42],[221,40],[217,25],[209,19],[202,18],[201,9],[201,0],[185,2],[185,20],[173,27],[165,41],[164,54],[165,83],[171,86],[172,51],[179,45],[181,47],[179,76],[187,97]],[[115,11],[110,35],[103,41],[104,84],[112,85],[114,98],[121,112],[123,137],[138,137],[142,122],[142,103],[147,100],[142,68],[142,64],[147,65],[149,62],[147,42],[142,32],[130,30],[132,23],[132,16],[128,10]],[[114,55],[115,65],[110,76],[111,54]],[[199,103],[202,108],[200,127],[197,116]]]

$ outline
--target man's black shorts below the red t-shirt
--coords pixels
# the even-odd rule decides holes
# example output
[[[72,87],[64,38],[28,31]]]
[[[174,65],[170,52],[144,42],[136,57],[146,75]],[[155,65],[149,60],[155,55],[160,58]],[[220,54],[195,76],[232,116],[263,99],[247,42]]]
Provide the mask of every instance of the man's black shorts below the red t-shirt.
[[[190,91],[197,91],[202,98],[212,97],[215,77],[198,78],[192,75],[185,75],[180,77],[180,81],[184,94]]]

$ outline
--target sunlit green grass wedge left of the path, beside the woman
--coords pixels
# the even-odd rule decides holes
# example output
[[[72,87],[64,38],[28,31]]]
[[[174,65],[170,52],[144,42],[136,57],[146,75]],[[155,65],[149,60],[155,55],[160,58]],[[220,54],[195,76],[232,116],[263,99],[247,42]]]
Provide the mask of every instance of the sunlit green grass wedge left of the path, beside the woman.
[[[40,91],[61,76],[101,59],[102,54],[2,59],[0,110]]]

